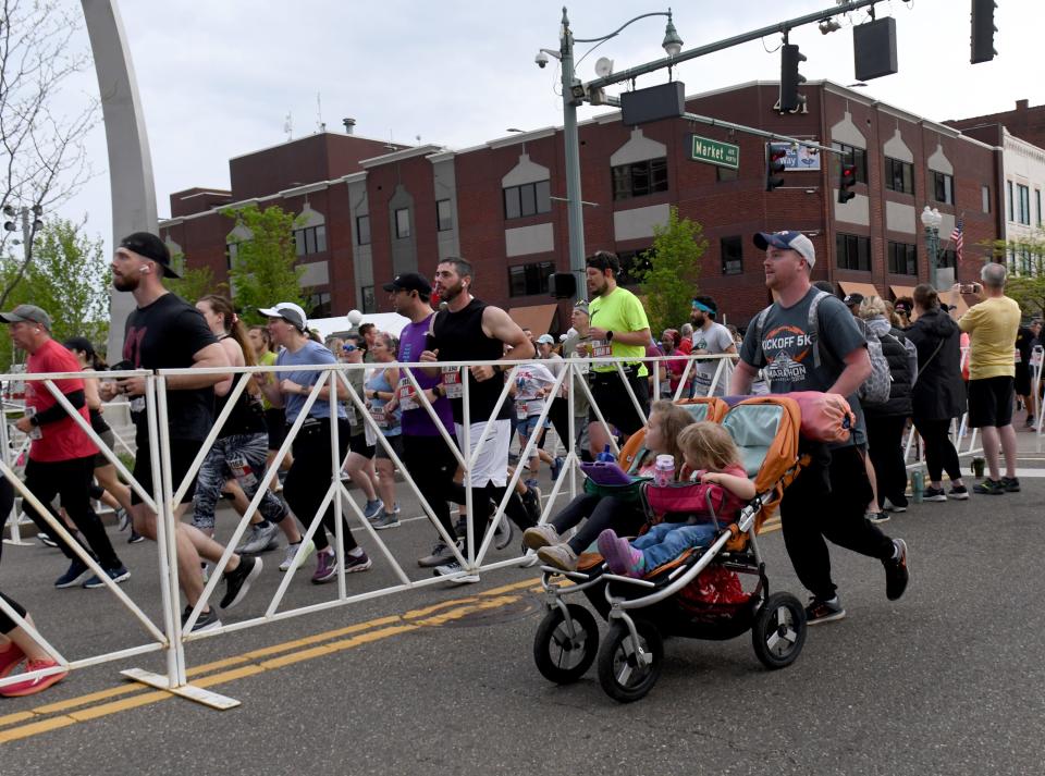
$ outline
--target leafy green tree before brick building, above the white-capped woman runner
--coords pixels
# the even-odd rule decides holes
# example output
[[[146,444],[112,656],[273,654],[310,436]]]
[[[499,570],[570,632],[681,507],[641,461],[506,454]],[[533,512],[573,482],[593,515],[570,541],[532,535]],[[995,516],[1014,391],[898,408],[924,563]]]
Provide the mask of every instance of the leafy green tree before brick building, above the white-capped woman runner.
[[[263,323],[259,307],[280,301],[294,301],[304,307],[300,279],[305,270],[295,266],[295,217],[275,205],[265,210],[257,205],[229,208],[222,214],[235,219],[236,225],[251,235],[236,245],[229,272],[241,317],[250,323]]]

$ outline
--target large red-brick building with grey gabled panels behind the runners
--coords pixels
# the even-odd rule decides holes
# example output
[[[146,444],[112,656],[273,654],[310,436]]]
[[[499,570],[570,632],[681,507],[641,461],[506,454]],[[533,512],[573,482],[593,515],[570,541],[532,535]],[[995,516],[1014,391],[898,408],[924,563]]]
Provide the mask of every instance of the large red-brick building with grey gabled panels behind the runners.
[[[1000,233],[999,148],[829,82],[804,86],[799,114],[774,111],[777,93],[776,83],[749,83],[688,98],[687,109],[852,151],[855,199],[836,204],[835,155],[791,155],[784,186],[765,192],[764,138],[683,120],[632,128],[612,112],[579,130],[582,196],[593,204],[585,207],[587,250],[615,250],[632,268],[675,206],[708,239],[700,292],[742,324],[767,299],[754,232],[802,230],[816,246],[816,279],[893,298],[929,278],[919,214],[930,205],[944,218],[942,247],[962,217],[958,274],[975,275],[985,251],[978,244]],[[736,144],[739,168],[692,160],[694,134]],[[279,204],[302,215],[296,236],[314,316],[388,310],[380,286],[394,274],[432,274],[441,257],[460,255],[476,266],[479,297],[541,331],[568,325],[546,293],[549,274],[568,270],[557,127],[460,150],[319,134],[238,157],[230,169],[231,192],[171,196],[161,233],[190,267],[223,279],[248,238],[216,207]],[[954,266],[952,251],[942,264]],[[941,283],[949,276],[944,270]]]

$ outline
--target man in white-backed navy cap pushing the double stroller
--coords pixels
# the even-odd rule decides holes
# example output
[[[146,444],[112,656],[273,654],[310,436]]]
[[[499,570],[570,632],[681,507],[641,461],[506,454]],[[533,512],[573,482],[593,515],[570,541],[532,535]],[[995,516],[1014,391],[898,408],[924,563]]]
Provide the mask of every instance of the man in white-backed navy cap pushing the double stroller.
[[[816,263],[812,242],[801,232],[759,233],[754,244],[765,251],[765,285],[777,294],[748,327],[734,370],[732,392],[746,394],[759,369],[772,393],[823,391],[846,396],[863,426],[857,389],[871,374],[868,342],[837,297],[810,284]],[[819,340],[819,342],[817,342]],[[819,355],[814,352],[819,348]],[[871,483],[859,439],[833,445],[810,445],[810,465],[784,492],[780,521],[784,545],[799,580],[812,593],[806,607],[810,625],[846,616],[831,578],[825,538],[885,567],[886,596],[899,599],[907,588],[907,544],[892,540],[868,522],[864,507]]]

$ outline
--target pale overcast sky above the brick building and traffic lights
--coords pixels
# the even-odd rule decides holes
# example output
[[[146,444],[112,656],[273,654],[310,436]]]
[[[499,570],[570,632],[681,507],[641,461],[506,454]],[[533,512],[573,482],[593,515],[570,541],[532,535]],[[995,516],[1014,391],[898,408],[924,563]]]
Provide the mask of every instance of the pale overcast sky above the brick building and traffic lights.
[[[72,0],[64,0],[71,2]],[[130,40],[145,111],[157,201],[192,186],[229,186],[232,157],[293,136],[343,130],[396,143],[465,148],[562,123],[558,71],[533,63],[539,48],[558,48],[562,2],[477,3],[442,0],[113,0]],[[831,7],[829,0],[689,0],[675,10],[684,48],[705,45]],[[969,64],[969,0],[883,0],[878,17],[897,19],[899,73],[869,83],[875,99],[932,120],[1009,110],[1018,99],[1045,103],[1040,67],[1042,0],[997,0],[993,62]],[[484,7],[485,5],[485,7]],[[655,2],[568,2],[577,38],[613,32],[628,19],[666,10]],[[809,79],[855,81],[851,25],[866,10],[839,15],[843,28],[815,25],[791,33],[808,57]],[[595,60],[622,71],[663,56],[663,17],[639,21],[603,44],[578,67],[589,81]],[[779,35],[684,63],[676,78],[689,95],[753,79],[779,78]],[[82,45],[87,46],[86,33]],[[580,57],[590,45],[577,45]],[[639,87],[663,83],[661,72]],[[77,85],[97,95],[88,74]],[[613,90],[611,90],[613,94]],[[317,104],[317,95],[320,104]],[[606,109],[581,109],[581,118]],[[109,178],[101,126],[90,138],[99,174],[61,214],[88,218],[87,230],[111,241]]]

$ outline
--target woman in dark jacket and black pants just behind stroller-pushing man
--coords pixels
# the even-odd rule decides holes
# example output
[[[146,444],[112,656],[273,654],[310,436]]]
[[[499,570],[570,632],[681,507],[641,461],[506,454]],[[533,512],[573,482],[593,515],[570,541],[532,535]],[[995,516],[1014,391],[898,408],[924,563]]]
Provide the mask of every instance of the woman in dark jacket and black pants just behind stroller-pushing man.
[[[903,431],[911,417],[911,385],[918,371],[914,346],[903,332],[894,329],[887,303],[871,296],[860,305],[860,317],[868,331],[878,337],[882,354],[889,362],[889,398],[881,404],[861,403],[868,424],[868,454],[877,480],[875,521],[888,512],[906,512],[907,465],[903,460]]]

